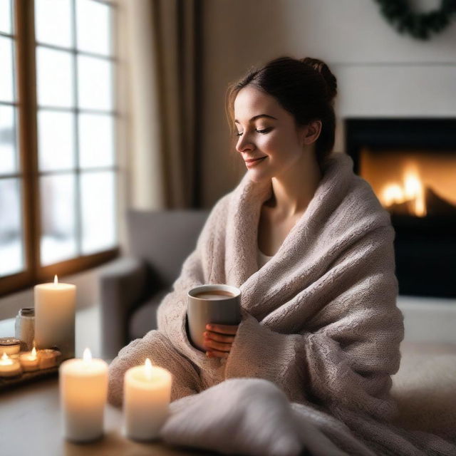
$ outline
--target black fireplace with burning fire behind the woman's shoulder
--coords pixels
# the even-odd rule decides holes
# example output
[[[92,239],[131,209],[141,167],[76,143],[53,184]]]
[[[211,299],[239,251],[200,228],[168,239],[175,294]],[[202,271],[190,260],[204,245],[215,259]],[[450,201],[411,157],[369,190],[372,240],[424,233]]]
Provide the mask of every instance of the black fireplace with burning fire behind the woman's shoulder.
[[[456,297],[456,119],[346,119],[345,131],[390,212],[400,294]]]

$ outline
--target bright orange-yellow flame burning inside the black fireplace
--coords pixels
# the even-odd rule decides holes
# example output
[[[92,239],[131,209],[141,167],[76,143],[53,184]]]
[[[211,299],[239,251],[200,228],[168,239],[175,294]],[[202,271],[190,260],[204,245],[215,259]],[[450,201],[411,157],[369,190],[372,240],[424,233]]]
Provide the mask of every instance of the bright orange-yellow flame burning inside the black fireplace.
[[[425,217],[427,214],[425,202],[425,190],[420,179],[420,174],[414,165],[405,168],[403,185],[390,182],[380,193],[380,201],[383,206],[409,202],[410,210],[417,217]]]

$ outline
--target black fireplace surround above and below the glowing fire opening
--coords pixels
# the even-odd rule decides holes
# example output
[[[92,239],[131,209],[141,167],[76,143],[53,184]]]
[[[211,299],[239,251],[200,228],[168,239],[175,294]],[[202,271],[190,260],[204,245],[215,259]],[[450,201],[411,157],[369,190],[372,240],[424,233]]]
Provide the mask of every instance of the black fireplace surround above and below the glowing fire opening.
[[[347,118],[345,147],[360,173],[361,150],[429,150],[456,160],[455,118]],[[456,180],[456,175],[455,175]],[[456,207],[455,207],[456,209]],[[391,214],[399,293],[456,297],[456,216]]]

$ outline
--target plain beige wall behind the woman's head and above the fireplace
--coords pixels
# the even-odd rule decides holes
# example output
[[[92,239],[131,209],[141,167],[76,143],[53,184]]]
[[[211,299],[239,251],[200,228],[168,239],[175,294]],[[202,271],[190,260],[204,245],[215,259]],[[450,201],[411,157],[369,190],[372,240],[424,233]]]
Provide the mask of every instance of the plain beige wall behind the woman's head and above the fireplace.
[[[439,4],[422,0],[421,8]],[[348,116],[456,116],[456,24],[430,41],[401,36],[366,0],[204,0],[204,206],[245,172],[229,146],[224,95],[249,66],[321,58],[338,78],[336,149]]]

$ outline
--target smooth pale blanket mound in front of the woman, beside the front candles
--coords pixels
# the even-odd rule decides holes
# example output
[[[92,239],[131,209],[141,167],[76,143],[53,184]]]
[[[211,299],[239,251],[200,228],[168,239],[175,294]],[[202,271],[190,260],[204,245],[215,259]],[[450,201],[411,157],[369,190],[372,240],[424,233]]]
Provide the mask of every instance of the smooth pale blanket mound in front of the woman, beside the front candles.
[[[174,445],[256,456],[298,456],[304,448],[314,456],[368,451],[355,439],[344,442],[347,449],[363,452],[340,450],[311,420],[295,415],[286,395],[266,380],[226,380],[199,395],[176,400],[170,409],[160,435]]]

